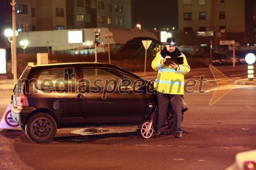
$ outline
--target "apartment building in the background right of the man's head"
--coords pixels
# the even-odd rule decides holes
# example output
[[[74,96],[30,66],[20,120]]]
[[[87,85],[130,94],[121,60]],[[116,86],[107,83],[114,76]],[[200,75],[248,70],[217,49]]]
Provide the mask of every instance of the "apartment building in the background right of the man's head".
[[[178,1],[178,34],[182,44],[209,44],[210,40],[215,44],[220,40],[235,40],[241,45],[255,44],[255,2],[255,0]]]

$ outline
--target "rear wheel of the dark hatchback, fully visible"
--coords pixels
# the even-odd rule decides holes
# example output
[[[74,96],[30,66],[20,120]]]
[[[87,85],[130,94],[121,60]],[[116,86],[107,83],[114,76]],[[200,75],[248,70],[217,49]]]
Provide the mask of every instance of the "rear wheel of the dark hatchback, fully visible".
[[[35,143],[48,143],[57,133],[55,119],[46,113],[35,113],[26,125],[28,138]]]

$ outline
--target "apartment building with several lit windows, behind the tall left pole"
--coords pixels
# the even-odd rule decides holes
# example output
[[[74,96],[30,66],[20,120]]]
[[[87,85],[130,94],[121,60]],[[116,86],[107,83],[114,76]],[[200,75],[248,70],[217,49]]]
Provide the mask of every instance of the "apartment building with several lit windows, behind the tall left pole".
[[[1,0],[1,29],[12,26],[11,0]],[[131,1],[16,0],[19,32],[84,28],[131,29]]]

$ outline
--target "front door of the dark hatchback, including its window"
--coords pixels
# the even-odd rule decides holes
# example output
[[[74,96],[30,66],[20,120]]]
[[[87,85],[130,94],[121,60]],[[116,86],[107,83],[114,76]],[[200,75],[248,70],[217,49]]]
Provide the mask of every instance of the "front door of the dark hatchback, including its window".
[[[104,67],[83,67],[81,76],[81,108],[88,122],[133,122],[145,116],[146,93],[135,78]]]

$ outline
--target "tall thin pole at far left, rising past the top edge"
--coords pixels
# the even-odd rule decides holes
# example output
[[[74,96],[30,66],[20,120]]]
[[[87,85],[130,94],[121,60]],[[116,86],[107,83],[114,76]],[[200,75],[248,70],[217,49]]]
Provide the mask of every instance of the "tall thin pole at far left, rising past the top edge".
[[[16,54],[16,16],[15,16],[15,0],[12,0],[12,31],[13,31],[13,84],[17,82],[17,54]]]

